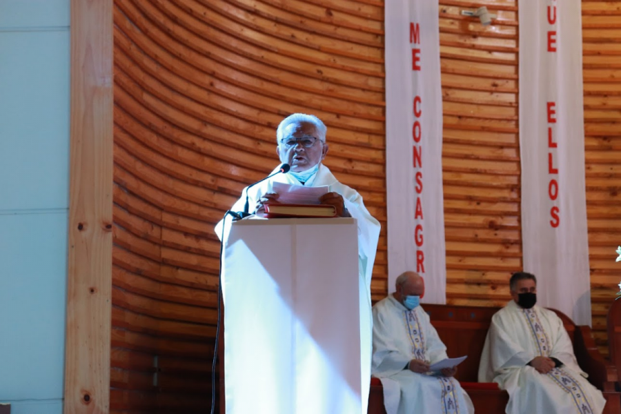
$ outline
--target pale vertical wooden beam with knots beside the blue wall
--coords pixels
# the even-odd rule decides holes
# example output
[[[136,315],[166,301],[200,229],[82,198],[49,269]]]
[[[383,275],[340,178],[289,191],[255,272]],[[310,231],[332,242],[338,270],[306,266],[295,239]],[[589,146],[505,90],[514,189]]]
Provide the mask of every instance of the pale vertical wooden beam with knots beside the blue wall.
[[[110,410],[112,0],[71,1],[64,413]]]

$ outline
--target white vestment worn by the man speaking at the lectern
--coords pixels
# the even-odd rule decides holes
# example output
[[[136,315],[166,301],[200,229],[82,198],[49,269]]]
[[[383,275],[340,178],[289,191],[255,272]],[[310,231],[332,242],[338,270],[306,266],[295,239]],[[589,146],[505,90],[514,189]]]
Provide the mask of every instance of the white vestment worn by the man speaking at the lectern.
[[[280,166],[275,168],[271,174],[277,172]],[[249,212],[254,213],[257,201],[268,191],[274,182],[301,185],[295,177],[290,174],[278,174],[262,183],[253,186],[248,190],[244,188],[232,211],[244,210],[246,204],[246,192],[248,194]],[[377,251],[377,241],[380,238],[380,222],[377,221],[364,206],[362,196],[356,190],[339,183],[336,177],[323,164],[319,164],[319,170],[311,176],[304,186],[319,187],[329,186],[329,191],[338,193],[343,197],[345,208],[351,217],[355,218],[358,227],[358,275],[359,275],[359,309],[360,309],[360,355],[361,355],[361,382],[362,382],[362,413],[366,414],[368,406],[368,390],[371,384],[371,330],[373,319],[371,317],[371,275],[373,275],[373,262]],[[228,237],[230,230],[230,217],[221,220],[215,232],[221,237],[224,225],[224,239]]]

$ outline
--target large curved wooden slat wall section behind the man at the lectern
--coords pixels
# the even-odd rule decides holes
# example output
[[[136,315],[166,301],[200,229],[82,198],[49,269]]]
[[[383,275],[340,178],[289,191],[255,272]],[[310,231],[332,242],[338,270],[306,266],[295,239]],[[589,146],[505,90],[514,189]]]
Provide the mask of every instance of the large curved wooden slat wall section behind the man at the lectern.
[[[385,223],[383,19],[373,0],[115,0],[112,410],[208,412],[213,227],[277,164],[286,115],[325,122],[326,165]]]

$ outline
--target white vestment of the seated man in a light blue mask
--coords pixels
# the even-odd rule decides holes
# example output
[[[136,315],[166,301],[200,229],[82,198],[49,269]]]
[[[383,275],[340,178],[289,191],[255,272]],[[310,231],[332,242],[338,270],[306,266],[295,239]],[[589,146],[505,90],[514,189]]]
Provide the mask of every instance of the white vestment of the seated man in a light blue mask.
[[[387,414],[474,413],[470,397],[455,378],[406,368],[413,358],[434,364],[446,357],[446,346],[422,306],[408,311],[393,295],[373,306],[371,373],[382,382]]]

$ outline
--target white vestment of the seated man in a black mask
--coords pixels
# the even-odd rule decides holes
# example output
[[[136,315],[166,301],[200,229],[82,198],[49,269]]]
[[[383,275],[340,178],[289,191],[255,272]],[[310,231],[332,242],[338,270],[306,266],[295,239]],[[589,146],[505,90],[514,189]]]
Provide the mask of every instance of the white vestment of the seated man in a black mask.
[[[563,363],[547,374],[527,365],[538,356]],[[524,309],[513,300],[493,317],[479,366],[479,382],[509,392],[508,414],[602,413],[602,393],[586,380],[563,322],[548,309]]]

